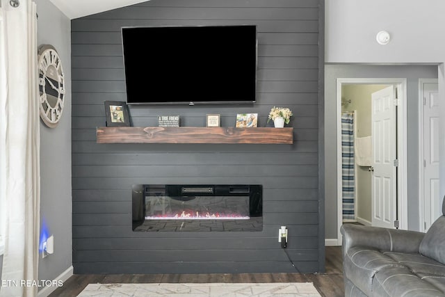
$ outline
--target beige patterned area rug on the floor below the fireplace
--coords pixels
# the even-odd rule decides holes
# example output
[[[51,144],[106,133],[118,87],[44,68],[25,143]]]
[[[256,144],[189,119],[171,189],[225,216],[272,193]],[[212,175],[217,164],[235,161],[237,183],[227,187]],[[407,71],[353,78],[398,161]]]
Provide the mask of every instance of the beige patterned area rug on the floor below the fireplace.
[[[321,297],[312,282],[270,282],[261,284],[88,284],[80,297]]]

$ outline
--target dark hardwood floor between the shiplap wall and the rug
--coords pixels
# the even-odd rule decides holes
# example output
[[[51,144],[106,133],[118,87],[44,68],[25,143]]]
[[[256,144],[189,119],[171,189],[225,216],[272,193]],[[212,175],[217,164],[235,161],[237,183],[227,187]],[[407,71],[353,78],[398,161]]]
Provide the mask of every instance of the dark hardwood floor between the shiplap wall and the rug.
[[[77,296],[88,284],[153,282],[313,282],[321,296],[344,296],[341,247],[327,246],[325,253],[325,273],[79,274],[49,296]]]

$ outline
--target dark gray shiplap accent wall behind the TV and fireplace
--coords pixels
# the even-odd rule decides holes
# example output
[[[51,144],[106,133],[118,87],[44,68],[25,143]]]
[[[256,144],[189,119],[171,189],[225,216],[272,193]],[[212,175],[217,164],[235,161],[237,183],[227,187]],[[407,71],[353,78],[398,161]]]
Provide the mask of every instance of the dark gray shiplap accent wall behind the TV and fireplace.
[[[323,271],[323,197],[319,187],[318,0],[152,0],[72,20],[72,198],[74,273],[294,272],[277,242],[289,228],[287,251],[302,272]],[[256,24],[257,103],[213,106],[130,106],[134,126],[157,115],[181,115],[204,127],[220,113],[289,107],[293,145],[163,145],[95,142],[105,125],[105,100],[125,101],[121,26]],[[143,74],[143,70],[141,70]],[[172,85],[172,88],[175,86]],[[269,124],[270,125],[270,124]],[[262,184],[262,232],[132,232],[132,184]]]

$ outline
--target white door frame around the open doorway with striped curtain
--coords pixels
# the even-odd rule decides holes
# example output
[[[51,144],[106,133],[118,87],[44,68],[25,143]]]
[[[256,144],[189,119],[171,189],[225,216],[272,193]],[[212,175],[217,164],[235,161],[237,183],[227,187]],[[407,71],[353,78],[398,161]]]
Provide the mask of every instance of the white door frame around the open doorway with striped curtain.
[[[397,216],[399,229],[408,227],[407,207],[407,79],[403,78],[338,78],[337,79],[337,244],[341,246],[342,236],[340,227],[343,223],[342,200],[341,200],[341,86],[343,84],[362,85],[394,85],[398,90],[397,108]]]

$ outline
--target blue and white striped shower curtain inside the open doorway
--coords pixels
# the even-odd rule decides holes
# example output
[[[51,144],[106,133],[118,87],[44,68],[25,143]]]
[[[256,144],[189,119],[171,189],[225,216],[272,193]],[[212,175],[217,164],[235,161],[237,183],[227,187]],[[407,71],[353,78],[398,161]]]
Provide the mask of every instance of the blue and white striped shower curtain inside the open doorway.
[[[355,220],[354,115],[341,115],[341,186],[343,220]]]

